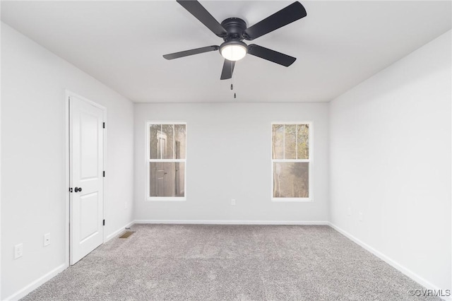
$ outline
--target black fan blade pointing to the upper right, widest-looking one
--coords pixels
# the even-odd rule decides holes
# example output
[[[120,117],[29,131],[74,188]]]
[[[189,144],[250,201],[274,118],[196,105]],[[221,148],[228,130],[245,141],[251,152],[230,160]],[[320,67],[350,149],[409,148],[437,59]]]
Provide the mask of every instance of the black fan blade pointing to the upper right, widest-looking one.
[[[273,13],[273,15],[261,20],[261,22],[254,24],[250,28],[244,30],[244,37],[246,40],[254,40],[256,37],[266,35],[267,33],[277,30],[287,24],[307,16],[306,10],[298,1],[286,6],[280,11]]]

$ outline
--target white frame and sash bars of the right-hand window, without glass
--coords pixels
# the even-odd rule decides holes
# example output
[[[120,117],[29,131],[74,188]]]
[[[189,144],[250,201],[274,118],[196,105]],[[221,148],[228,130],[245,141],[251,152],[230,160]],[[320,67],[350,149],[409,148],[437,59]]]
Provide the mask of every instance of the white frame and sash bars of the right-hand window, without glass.
[[[308,124],[309,125],[309,159],[273,159],[273,124],[284,124],[284,125],[294,125],[294,124]],[[297,147],[297,143],[295,144]],[[284,144],[283,144],[284,146]],[[285,146],[284,146],[285,147]],[[284,202],[295,202],[295,203],[303,203],[303,202],[313,202],[314,201],[314,181],[313,181],[313,173],[312,173],[312,165],[314,163],[314,125],[313,122],[271,122],[270,124],[270,163],[271,163],[271,185],[270,185],[270,196],[271,201],[277,202],[277,203],[284,203]],[[283,152],[285,154],[285,152]],[[307,198],[275,198],[273,196],[273,163],[275,162],[307,162],[309,163],[309,179],[308,179],[308,185],[309,185],[309,197]]]

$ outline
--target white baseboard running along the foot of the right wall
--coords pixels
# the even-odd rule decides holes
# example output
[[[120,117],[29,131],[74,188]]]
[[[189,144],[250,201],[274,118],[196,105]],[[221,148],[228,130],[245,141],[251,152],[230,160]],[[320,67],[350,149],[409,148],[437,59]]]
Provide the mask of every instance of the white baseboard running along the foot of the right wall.
[[[363,247],[364,249],[367,249],[367,251],[371,252],[375,256],[379,257],[379,259],[386,262],[386,264],[389,264],[390,266],[393,266],[393,268],[396,268],[398,271],[405,274],[405,276],[408,276],[412,278],[412,280],[416,281],[420,285],[424,286],[424,288],[427,288],[429,290],[441,290],[433,283],[425,280],[421,276],[417,275],[417,273],[411,271],[409,268],[405,268],[405,266],[402,266],[401,264],[398,264],[397,261],[389,258],[385,254],[379,252],[378,250],[374,249],[373,247],[369,246],[369,244],[366,244],[365,242],[362,242],[362,240],[357,239],[357,237],[351,235],[349,232],[339,228],[337,225],[334,225],[333,223],[328,222],[328,225],[331,226],[334,230],[340,232],[340,234],[344,235],[348,239],[352,240],[356,244],[358,244],[360,247]],[[412,288],[417,289],[417,288]],[[443,288],[443,292],[445,292],[446,288]],[[407,292],[408,293],[408,292]],[[443,300],[452,300],[452,296],[449,297],[442,297]]]

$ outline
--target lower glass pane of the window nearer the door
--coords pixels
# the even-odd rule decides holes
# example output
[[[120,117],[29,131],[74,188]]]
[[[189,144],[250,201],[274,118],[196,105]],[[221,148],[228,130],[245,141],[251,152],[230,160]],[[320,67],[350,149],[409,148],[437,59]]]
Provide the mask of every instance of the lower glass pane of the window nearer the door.
[[[149,196],[185,196],[185,163],[149,164]]]

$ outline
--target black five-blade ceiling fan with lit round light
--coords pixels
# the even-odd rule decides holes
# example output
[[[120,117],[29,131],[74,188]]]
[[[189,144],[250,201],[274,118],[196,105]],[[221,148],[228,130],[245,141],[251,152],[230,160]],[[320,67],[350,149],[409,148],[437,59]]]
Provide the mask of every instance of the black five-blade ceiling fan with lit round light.
[[[275,52],[272,49],[258,46],[256,44],[246,45],[242,40],[254,40],[257,37],[266,35],[267,33],[277,30],[287,24],[307,16],[306,10],[298,1],[286,6],[273,15],[261,20],[259,23],[246,27],[246,22],[241,18],[227,18],[218,23],[215,18],[196,0],[177,0],[189,13],[201,21],[208,29],[210,29],[218,37],[222,37],[225,41],[220,46],[207,46],[196,49],[190,49],[182,52],[174,52],[165,54],[165,59],[178,59],[179,57],[187,57],[189,55],[200,54],[220,50],[220,54],[225,58],[220,79],[232,78],[235,62],[243,59],[246,54],[251,54],[261,59],[273,61],[273,63],[283,66],[290,66],[295,57],[287,54]]]

